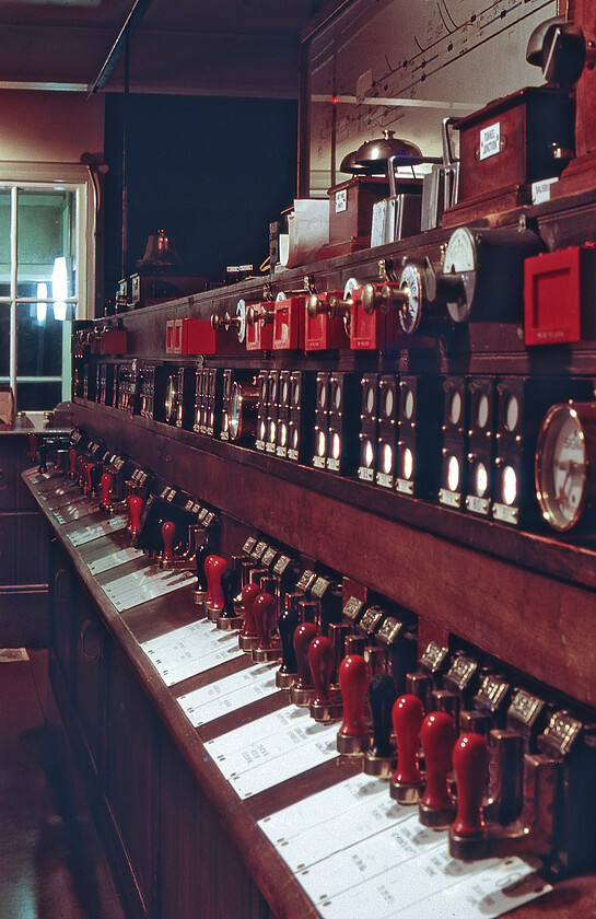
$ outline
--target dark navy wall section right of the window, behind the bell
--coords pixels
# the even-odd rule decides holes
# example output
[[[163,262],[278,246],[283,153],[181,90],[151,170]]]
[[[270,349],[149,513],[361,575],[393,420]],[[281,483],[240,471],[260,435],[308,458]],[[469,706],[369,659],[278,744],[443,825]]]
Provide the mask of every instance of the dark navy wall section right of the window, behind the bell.
[[[222,280],[269,253],[269,222],[292,205],[297,104],[131,94],[126,103],[128,260],[121,274],[125,98],[106,95],[105,295],[136,271],[150,233],[174,236],[185,268]]]

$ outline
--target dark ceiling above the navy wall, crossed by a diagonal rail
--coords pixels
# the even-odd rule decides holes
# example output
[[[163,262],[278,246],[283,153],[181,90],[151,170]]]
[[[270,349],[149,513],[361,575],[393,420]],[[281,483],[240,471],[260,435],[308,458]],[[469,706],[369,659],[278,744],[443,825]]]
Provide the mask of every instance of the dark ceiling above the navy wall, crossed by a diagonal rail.
[[[297,95],[317,0],[152,0],[130,47],[138,92]],[[133,0],[0,0],[0,88],[91,86]],[[108,91],[122,88],[122,63]]]

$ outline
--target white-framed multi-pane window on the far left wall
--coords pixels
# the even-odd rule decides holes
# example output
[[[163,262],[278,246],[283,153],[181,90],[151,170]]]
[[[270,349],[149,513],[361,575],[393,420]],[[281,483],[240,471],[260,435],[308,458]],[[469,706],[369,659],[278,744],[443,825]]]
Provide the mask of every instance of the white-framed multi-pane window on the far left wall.
[[[81,177],[0,177],[0,383],[10,383],[19,411],[70,398],[72,319],[93,315],[92,196]]]

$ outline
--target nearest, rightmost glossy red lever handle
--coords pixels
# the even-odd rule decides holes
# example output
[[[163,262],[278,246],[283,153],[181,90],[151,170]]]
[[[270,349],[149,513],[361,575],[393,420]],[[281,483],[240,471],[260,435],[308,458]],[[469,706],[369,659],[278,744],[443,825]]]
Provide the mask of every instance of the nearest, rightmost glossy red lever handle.
[[[486,830],[482,799],[489,780],[489,749],[481,734],[461,734],[453,748],[457,784],[456,836],[482,836]]]

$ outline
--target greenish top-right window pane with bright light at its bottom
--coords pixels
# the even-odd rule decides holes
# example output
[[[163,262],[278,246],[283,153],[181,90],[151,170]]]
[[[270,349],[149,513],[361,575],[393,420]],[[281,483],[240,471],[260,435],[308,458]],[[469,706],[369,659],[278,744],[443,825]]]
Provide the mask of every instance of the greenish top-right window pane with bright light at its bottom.
[[[17,296],[38,295],[38,284],[58,300],[74,295],[74,205],[73,191],[19,191]]]

